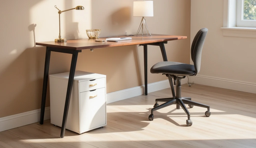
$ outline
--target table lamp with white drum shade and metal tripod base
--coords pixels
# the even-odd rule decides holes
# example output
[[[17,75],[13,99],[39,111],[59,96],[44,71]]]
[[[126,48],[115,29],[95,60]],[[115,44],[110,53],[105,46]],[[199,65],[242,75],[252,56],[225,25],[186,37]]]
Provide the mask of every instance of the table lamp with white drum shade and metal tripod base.
[[[153,1],[135,1],[135,2],[133,2],[133,16],[142,17],[141,24],[137,31],[136,36],[151,36],[144,17],[154,16]],[[142,29],[142,34],[139,35],[139,32],[141,29]],[[146,30],[145,35],[144,35],[144,30]]]

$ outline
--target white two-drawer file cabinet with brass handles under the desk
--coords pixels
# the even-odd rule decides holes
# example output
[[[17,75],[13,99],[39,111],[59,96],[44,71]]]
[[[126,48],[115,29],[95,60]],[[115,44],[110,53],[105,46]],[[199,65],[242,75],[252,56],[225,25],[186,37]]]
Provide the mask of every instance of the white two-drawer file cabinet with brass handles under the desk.
[[[49,75],[51,124],[62,125],[69,72]],[[66,129],[84,133],[107,124],[106,76],[76,71]]]

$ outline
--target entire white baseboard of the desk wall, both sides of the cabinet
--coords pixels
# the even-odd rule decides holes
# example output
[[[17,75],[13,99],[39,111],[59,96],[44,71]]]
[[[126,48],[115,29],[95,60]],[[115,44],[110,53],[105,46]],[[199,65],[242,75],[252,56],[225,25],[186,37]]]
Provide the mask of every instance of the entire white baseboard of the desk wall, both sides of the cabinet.
[[[182,84],[187,83],[187,78],[182,79]],[[148,93],[170,88],[169,81],[164,80],[148,84]],[[144,85],[116,92],[107,93],[107,103],[112,103],[144,94]],[[50,107],[45,108],[44,120],[50,119]],[[7,117],[0,118],[0,132],[17,128],[20,126],[39,122],[40,120],[40,109],[19,113]]]

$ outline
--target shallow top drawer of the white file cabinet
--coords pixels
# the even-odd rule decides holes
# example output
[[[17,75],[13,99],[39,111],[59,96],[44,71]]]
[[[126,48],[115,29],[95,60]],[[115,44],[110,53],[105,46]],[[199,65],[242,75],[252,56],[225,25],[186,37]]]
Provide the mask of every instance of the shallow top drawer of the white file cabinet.
[[[105,78],[80,82],[80,92],[95,90],[105,87]]]

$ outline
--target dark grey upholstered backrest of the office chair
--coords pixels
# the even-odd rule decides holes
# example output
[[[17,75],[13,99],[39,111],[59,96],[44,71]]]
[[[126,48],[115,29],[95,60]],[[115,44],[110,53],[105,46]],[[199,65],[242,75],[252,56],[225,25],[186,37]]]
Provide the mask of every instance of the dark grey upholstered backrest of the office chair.
[[[192,61],[194,62],[196,74],[200,71],[202,49],[204,46],[207,32],[208,32],[207,28],[200,29],[197,32],[191,45],[191,58],[192,58]]]

